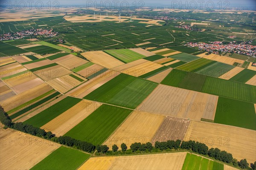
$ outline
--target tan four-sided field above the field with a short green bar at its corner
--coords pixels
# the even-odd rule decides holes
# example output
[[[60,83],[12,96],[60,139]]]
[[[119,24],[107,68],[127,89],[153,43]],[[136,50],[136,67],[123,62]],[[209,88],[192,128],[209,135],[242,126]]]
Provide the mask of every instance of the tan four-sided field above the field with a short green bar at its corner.
[[[61,65],[55,65],[49,68],[44,68],[41,70],[34,71],[34,74],[36,74],[38,77],[40,77],[44,81],[49,81],[51,79],[61,77],[71,73],[72,71],[62,67]]]

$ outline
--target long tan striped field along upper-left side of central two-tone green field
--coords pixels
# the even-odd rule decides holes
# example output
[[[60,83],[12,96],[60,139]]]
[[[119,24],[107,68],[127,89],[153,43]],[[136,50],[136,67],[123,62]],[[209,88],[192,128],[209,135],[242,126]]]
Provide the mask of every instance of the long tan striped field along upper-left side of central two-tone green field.
[[[90,79],[89,81],[73,89],[72,91],[69,91],[67,95],[83,98],[84,96],[87,96],[87,94],[90,94],[90,92],[104,85],[106,82],[118,76],[119,74],[120,72],[116,72],[113,70],[106,71],[100,74],[99,76],[94,77],[93,79]]]

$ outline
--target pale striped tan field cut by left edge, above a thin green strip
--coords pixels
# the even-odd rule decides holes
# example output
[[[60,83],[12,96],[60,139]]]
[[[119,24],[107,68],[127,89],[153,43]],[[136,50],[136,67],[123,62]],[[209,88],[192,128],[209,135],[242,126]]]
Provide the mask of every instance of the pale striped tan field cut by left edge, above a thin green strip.
[[[0,67],[0,78],[12,76],[15,74],[22,73],[23,71],[26,71],[27,69],[20,65],[17,62],[4,65]]]

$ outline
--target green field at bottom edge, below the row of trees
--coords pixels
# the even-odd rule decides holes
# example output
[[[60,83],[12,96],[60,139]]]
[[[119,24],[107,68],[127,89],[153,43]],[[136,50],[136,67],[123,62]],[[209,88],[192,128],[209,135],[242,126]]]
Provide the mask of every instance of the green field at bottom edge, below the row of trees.
[[[87,153],[61,146],[31,170],[76,170],[89,157]]]

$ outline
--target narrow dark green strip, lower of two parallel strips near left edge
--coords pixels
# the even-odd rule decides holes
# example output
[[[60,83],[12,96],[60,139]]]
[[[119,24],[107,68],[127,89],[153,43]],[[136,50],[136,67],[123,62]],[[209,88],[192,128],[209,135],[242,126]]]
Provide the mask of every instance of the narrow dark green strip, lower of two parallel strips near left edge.
[[[58,96],[59,94],[60,94],[60,92],[55,92],[54,94],[51,94],[50,96],[47,96],[46,98],[40,100],[39,102],[36,102],[36,103],[30,105],[29,107],[26,107],[23,110],[18,111],[17,113],[10,116],[10,118],[14,119],[14,118],[22,115],[23,113],[26,113],[26,112],[32,110],[33,108],[36,108],[37,106],[43,104],[44,102],[47,102],[48,100],[54,98],[55,96]]]

